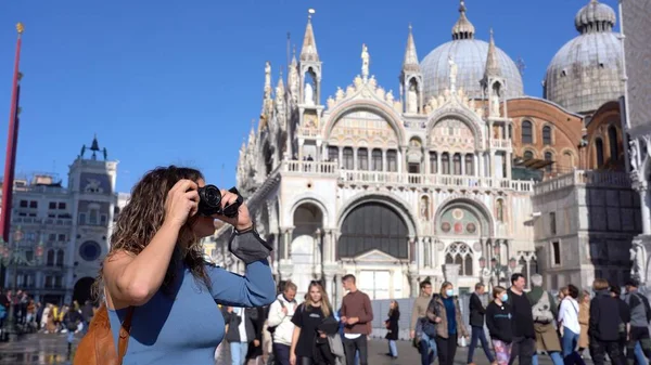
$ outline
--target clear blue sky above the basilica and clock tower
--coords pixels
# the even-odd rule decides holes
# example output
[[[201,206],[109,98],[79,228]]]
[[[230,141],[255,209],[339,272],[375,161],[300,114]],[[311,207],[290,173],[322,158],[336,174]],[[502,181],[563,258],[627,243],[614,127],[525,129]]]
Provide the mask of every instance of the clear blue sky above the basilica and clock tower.
[[[601,2],[616,10],[616,0]],[[574,15],[587,3],[467,0],[476,37],[487,40],[493,27],[497,45],[524,60],[525,92],[534,96],[541,95],[554,53],[577,35]],[[168,164],[197,167],[220,186],[234,184],[239,146],[261,106],[265,61],[276,84],[286,65],[286,32],[299,51],[307,9],[317,10],[324,103],[359,74],[362,43],[371,74],[396,91],[408,24],[422,60],[450,40],[458,6],[457,0],[3,1],[0,151],[18,21],[26,30],[16,174],[55,172],[66,183],[68,165],[97,133],[119,160],[117,188],[126,192],[149,169]]]

